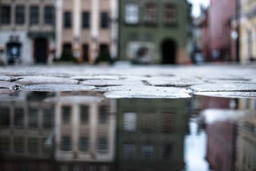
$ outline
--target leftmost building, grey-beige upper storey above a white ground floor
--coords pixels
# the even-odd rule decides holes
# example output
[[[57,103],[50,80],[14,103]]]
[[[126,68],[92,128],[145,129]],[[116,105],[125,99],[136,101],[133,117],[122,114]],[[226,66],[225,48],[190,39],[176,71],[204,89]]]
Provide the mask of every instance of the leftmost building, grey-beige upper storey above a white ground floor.
[[[5,63],[47,63],[54,46],[55,9],[51,0],[0,3],[1,60]]]

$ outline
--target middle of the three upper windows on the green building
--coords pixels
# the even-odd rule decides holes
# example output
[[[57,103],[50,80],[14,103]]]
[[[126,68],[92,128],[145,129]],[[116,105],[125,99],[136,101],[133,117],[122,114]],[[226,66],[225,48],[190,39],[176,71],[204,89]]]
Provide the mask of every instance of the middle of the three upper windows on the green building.
[[[156,4],[145,5],[144,22],[145,24],[156,24]]]

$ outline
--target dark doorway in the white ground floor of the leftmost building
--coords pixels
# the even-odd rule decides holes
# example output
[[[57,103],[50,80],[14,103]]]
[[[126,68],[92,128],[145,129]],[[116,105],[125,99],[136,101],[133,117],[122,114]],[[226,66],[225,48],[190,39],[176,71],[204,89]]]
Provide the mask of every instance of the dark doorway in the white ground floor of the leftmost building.
[[[36,63],[46,63],[47,61],[46,38],[38,38],[35,40],[35,59],[36,59]]]

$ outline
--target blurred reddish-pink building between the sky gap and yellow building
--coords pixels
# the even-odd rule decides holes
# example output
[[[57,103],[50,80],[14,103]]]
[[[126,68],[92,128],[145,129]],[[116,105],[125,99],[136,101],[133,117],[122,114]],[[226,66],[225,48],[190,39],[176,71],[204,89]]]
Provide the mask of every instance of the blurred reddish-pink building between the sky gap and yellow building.
[[[207,61],[236,61],[238,24],[236,0],[211,0],[207,9],[204,56]],[[210,57],[209,57],[210,56]]]

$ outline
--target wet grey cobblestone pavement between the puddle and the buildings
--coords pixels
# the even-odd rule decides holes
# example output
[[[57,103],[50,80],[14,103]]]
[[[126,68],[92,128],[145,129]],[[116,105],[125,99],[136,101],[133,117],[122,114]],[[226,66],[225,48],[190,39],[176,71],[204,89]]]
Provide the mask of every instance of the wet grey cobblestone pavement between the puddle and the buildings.
[[[256,97],[256,65],[6,66],[0,93],[101,91],[111,98]]]

